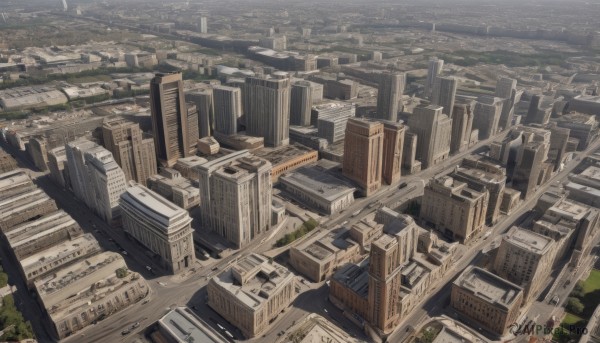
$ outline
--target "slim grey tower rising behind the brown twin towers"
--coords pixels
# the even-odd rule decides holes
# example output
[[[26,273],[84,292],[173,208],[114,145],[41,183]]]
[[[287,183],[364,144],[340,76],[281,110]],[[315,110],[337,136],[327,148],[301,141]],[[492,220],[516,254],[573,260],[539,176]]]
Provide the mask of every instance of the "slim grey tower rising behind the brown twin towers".
[[[383,73],[379,75],[377,91],[377,118],[398,121],[399,103],[402,101],[406,74]]]

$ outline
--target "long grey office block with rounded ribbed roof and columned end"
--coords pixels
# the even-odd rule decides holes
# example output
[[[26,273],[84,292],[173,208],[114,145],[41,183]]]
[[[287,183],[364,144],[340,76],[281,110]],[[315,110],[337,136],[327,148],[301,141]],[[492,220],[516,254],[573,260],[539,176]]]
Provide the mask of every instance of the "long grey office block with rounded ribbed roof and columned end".
[[[173,274],[194,265],[192,218],[181,207],[142,185],[121,195],[123,228],[148,250],[160,256]]]

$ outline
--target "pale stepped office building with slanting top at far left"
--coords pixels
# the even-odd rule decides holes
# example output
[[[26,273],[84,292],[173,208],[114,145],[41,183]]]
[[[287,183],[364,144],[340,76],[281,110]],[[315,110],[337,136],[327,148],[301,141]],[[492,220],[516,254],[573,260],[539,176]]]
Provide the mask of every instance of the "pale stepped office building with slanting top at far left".
[[[116,220],[119,197],[127,188],[125,173],[110,151],[86,139],[65,146],[75,196],[106,222]]]

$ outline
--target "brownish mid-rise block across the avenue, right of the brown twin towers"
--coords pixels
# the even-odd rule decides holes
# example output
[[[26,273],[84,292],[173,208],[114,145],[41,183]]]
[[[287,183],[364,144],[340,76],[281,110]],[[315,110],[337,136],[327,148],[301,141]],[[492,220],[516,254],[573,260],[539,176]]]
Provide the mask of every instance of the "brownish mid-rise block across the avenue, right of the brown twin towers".
[[[463,244],[482,232],[489,193],[476,191],[449,176],[431,180],[421,204],[420,218]]]

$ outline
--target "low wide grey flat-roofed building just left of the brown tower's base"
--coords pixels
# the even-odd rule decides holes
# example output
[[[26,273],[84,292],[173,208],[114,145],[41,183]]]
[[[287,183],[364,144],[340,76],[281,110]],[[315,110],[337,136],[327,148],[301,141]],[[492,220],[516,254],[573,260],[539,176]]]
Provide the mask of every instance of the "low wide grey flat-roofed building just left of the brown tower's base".
[[[284,174],[280,182],[294,199],[329,215],[345,210],[354,202],[355,188],[319,167],[299,168]]]

